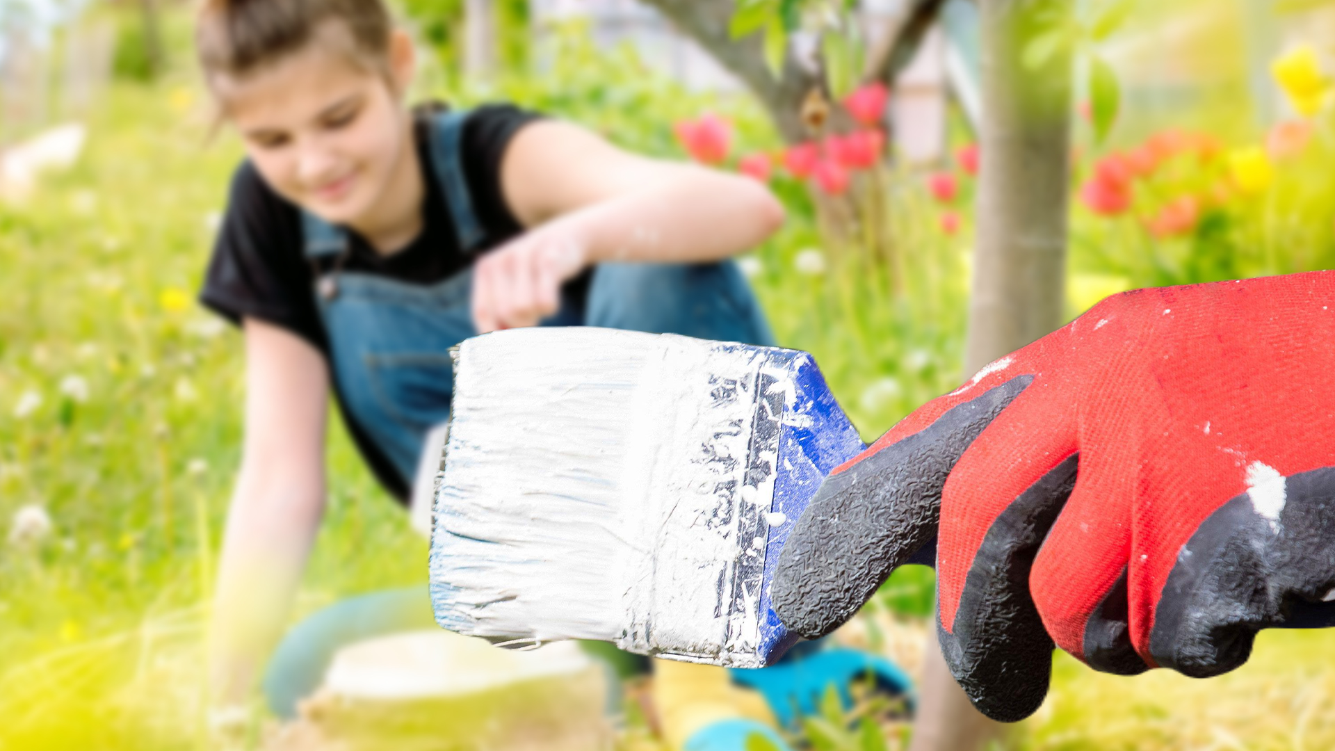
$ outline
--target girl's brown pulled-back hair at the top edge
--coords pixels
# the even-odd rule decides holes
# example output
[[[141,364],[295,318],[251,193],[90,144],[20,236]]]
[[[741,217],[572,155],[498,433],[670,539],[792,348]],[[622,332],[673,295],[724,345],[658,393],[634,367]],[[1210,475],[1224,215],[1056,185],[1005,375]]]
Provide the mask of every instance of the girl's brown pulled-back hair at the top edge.
[[[326,24],[352,61],[382,69],[392,21],[382,0],[206,0],[195,44],[206,76],[246,76],[302,51]]]

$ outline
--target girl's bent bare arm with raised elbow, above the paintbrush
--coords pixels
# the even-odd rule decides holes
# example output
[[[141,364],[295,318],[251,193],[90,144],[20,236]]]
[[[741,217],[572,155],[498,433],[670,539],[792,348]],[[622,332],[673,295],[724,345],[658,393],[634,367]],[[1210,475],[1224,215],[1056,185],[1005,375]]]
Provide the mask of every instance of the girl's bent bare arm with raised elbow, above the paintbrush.
[[[757,180],[630,154],[558,120],[515,134],[501,183],[529,231],[478,261],[479,331],[555,313],[562,282],[593,263],[720,261],[784,223],[782,206]]]

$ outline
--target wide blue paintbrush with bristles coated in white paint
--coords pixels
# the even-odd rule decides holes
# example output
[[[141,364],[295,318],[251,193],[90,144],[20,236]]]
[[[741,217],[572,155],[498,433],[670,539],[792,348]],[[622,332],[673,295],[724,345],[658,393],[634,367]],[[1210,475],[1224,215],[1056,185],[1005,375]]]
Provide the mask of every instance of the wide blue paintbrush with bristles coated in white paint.
[[[812,355],[593,327],[453,355],[449,430],[419,478],[442,627],[730,667],[797,640],[770,609],[780,549],[865,448]]]

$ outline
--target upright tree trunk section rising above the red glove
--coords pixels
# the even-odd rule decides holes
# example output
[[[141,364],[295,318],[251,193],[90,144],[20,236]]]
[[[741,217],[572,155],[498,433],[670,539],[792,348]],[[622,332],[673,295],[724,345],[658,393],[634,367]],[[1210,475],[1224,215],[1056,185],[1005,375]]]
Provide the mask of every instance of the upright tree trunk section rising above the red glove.
[[[983,131],[965,371],[1061,325],[1071,57],[1021,61],[1041,0],[980,0]]]

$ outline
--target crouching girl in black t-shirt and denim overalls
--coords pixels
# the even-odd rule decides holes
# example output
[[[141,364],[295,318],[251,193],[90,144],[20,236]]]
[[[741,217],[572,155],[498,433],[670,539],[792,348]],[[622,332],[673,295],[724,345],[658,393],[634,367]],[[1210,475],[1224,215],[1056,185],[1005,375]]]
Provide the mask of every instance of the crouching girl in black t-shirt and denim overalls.
[[[447,350],[463,338],[590,325],[770,343],[726,258],[784,214],[748,178],[627,154],[511,106],[407,108],[413,44],[380,0],[208,0],[196,41],[247,155],[202,293],[246,342],[211,631],[215,700],[239,707],[319,527],[330,392],[403,501],[427,429],[449,414]],[[375,597],[280,656],[310,661],[367,619],[426,608],[425,591]],[[290,714],[310,686],[272,675],[271,704]]]

